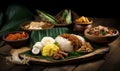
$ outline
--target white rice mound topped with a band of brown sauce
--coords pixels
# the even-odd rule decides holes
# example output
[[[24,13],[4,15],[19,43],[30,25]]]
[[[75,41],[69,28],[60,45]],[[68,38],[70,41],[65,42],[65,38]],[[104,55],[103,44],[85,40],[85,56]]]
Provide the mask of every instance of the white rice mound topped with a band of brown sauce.
[[[58,42],[59,48],[66,52],[76,51],[85,43],[81,36],[66,33],[57,36],[55,41]]]

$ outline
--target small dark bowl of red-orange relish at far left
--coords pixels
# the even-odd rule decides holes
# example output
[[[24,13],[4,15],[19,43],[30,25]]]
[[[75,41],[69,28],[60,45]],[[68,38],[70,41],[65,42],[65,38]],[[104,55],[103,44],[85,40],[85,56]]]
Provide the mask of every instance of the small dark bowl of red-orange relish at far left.
[[[14,36],[16,33],[23,34],[23,32],[25,34],[24,38],[20,38],[21,36],[17,36],[17,37]],[[10,34],[12,34],[13,39],[11,39]],[[9,36],[9,38],[7,38],[8,36]],[[5,43],[12,46],[13,48],[20,48],[20,47],[26,45],[26,43],[28,43],[29,34],[25,31],[13,31],[13,32],[9,32],[9,33],[3,35],[2,38],[5,41]]]

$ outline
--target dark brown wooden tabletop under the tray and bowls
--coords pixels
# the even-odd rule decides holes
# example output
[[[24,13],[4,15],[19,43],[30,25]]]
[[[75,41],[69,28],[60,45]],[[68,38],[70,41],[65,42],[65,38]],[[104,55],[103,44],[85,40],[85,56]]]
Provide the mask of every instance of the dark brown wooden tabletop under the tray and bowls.
[[[115,27],[120,31],[119,19],[92,18],[94,25],[107,25]],[[109,44],[110,52],[99,59],[88,62],[45,66],[45,65],[15,65],[4,60],[4,56],[9,55],[12,49],[9,45],[0,42],[0,71],[120,71],[120,36]]]

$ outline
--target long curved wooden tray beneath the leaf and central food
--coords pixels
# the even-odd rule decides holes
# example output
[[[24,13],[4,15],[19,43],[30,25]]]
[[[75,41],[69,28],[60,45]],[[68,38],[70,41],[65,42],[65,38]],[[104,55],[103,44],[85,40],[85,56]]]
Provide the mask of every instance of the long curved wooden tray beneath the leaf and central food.
[[[66,64],[84,63],[90,60],[99,59],[103,57],[107,52],[109,52],[109,47],[101,47],[91,53],[87,53],[78,57],[73,57],[58,61],[51,61],[49,59],[36,58],[34,56],[31,57],[31,55],[29,54],[31,51],[29,49],[30,48],[17,49],[17,52],[19,52],[20,57],[30,59],[30,63],[41,64],[41,65],[66,65]]]

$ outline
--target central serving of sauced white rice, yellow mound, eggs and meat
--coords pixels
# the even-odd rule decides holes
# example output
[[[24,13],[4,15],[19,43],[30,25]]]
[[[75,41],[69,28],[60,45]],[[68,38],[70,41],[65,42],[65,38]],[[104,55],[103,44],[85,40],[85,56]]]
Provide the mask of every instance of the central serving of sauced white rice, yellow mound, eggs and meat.
[[[64,59],[70,52],[92,52],[93,50],[94,48],[82,36],[64,33],[55,38],[43,37],[33,45],[32,53]]]

